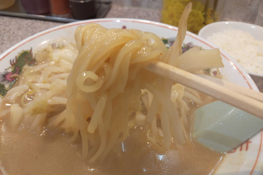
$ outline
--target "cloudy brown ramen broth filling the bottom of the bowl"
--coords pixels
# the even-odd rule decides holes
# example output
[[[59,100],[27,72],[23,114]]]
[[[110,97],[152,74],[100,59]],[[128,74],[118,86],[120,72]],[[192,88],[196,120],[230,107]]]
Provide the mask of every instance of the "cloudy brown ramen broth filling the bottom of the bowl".
[[[165,154],[146,143],[142,128],[117,145],[106,160],[88,164],[80,158],[81,144],[58,130],[37,134],[27,128],[13,129],[1,121],[0,160],[8,174],[210,174],[222,158],[194,141]]]

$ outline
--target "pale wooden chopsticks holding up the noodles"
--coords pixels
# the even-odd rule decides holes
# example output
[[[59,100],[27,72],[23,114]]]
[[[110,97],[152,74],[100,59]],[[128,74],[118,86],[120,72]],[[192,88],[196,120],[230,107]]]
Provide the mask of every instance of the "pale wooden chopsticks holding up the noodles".
[[[262,101],[260,92],[229,82],[225,83],[225,81],[218,81],[219,84],[222,84],[219,85],[163,62],[153,61],[145,69],[263,119],[263,103],[260,102]],[[260,99],[260,101],[256,99]]]

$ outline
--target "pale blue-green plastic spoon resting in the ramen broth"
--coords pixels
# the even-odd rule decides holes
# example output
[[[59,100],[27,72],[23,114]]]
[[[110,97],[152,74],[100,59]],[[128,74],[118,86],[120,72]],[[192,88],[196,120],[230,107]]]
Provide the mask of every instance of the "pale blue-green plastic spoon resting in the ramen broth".
[[[262,119],[222,101],[215,101],[195,111],[192,136],[215,151],[227,153],[262,128]]]

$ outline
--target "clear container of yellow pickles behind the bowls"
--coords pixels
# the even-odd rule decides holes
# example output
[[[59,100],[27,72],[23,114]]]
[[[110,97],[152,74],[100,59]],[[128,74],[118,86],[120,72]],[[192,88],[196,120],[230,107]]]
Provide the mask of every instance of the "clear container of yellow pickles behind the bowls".
[[[163,0],[161,22],[178,27],[186,5],[192,2],[187,30],[195,34],[207,24],[220,20],[225,0]]]

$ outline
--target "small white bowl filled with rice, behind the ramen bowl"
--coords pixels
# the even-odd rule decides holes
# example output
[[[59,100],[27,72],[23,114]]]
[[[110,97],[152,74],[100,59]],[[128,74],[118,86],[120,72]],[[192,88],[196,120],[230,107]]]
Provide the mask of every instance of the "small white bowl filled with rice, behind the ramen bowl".
[[[220,21],[206,25],[198,35],[233,57],[263,92],[263,27],[245,22]]]

